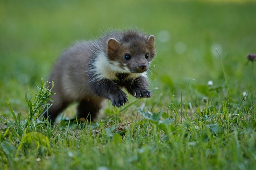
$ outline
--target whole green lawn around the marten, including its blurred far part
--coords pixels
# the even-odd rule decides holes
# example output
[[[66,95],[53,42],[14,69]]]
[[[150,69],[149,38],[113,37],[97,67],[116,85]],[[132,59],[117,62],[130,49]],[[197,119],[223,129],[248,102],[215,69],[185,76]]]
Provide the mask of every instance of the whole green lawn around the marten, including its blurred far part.
[[[246,55],[256,53],[255,6],[1,2],[0,169],[254,169],[256,79]],[[96,122],[66,120],[75,105],[54,127],[40,119],[61,51],[106,28],[133,26],[156,37],[153,96],[130,95],[122,108],[109,102]]]

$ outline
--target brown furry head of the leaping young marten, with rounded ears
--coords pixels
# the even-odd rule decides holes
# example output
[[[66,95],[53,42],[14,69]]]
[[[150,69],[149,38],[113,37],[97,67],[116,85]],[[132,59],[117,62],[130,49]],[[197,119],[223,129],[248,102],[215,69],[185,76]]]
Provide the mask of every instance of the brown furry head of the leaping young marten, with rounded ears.
[[[107,57],[117,71],[143,73],[156,55],[154,42],[153,35],[123,32],[120,36],[108,39]]]

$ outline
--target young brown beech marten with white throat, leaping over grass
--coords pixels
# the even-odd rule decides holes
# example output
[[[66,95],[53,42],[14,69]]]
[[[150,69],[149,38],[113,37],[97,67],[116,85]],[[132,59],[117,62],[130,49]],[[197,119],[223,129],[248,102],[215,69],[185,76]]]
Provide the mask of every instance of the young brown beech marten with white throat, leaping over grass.
[[[116,107],[128,102],[123,87],[136,98],[151,97],[146,71],[156,55],[154,41],[153,35],[130,30],[66,49],[48,80],[54,82],[56,94],[44,118],[54,122],[69,104],[78,102],[77,118],[93,120],[103,100],[110,99]]]

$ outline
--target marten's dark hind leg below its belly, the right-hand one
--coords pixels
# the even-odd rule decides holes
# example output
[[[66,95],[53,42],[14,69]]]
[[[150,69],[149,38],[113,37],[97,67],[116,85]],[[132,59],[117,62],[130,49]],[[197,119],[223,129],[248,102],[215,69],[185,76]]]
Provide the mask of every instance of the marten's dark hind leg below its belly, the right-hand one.
[[[102,100],[82,100],[77,105],[77,118],[86,118],[87,120],[95,120],[101,109]]]

